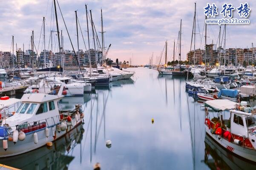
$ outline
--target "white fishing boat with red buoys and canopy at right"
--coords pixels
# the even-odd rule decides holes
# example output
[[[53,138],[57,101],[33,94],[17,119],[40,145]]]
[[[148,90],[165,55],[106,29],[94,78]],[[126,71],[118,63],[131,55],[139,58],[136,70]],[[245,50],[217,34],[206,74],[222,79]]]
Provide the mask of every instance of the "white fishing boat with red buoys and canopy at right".
[[[256,110],[230,100],[209,100],[204,106],[206,135],[229,153],[256,162]]]

